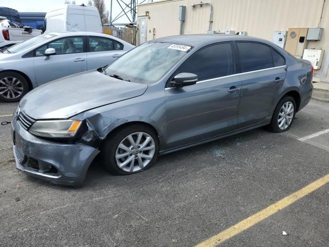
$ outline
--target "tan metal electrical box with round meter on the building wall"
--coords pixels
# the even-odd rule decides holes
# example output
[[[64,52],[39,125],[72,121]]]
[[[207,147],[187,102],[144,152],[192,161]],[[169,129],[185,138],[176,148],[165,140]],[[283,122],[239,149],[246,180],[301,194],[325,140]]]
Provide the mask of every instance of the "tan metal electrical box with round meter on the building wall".
[[[306,48],[308,28],[289,28],[284,49],[291,55],[301,58]]]

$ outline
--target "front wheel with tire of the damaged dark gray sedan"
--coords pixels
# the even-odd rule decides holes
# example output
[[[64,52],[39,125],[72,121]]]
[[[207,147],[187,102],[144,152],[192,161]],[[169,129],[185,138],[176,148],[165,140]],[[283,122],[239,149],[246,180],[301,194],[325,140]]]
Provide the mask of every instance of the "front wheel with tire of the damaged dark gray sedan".
[[[104,140],[101,162],[112,174],[128,175],[150,168],[158,152],[156,132],[144,125],[132,125]]]

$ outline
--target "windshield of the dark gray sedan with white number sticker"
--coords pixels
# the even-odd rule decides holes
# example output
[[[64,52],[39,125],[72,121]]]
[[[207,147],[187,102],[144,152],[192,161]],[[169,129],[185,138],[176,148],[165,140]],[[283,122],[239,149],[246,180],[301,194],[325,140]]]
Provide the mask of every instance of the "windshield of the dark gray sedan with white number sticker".
[[[164,76],[190,49],[190,46],[172,43],[144,43],[109,64],[105,72],[132,82],[153,83]]]

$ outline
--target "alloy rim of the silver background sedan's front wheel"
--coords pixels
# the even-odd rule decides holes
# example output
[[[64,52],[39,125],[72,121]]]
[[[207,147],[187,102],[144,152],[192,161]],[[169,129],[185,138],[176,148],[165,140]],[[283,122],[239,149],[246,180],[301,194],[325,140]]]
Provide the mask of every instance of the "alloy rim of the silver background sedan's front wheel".
[[[6,99],[16,99],[23,94],[23,83],[15,77],[0,80],[0,95]]]

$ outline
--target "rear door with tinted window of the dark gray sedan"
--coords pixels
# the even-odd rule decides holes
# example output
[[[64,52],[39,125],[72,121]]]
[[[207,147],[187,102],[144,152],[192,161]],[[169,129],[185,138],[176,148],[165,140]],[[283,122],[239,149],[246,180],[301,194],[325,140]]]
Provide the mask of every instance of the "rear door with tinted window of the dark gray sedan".
[[[284,57],[272,47],[255,42],[236,42],[241,67],[239,128],[255,125],[271,116],[286,76]]]

